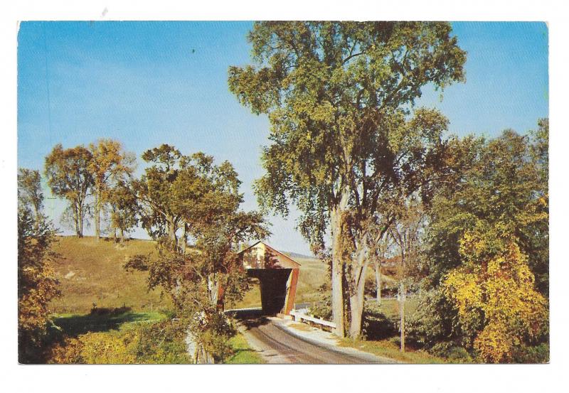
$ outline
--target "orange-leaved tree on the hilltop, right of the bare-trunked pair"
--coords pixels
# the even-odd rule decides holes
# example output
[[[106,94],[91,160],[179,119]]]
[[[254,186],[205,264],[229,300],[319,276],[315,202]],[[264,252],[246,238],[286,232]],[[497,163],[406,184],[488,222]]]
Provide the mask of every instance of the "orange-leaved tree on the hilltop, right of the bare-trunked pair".
[[[89,150],[92,158],[88,168],[93,179],[95,237],[98,240],[101,235],[101,211],[109,202],[112,183],[125,181],[132,176],[134,156],[123,151],[120,142],[112,139],[100,139],[90,144]]]

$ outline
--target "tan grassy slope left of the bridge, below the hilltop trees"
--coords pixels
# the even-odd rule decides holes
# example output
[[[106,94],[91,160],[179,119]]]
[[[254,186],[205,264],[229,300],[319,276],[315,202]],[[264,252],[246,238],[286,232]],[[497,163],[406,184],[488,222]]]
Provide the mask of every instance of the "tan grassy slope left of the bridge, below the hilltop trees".
[[[126,306],[133,311],[156,311],[169,306],[160,291],[147,291],[147,274],[127,272],[124,262],[134,254],[154,249],[148,240],[132,239],[124,245],[95,237],[59,237],[53,250],[59,254],[55,274],[62,296],[51,303],[53,313],[87,313],[97,308]]]

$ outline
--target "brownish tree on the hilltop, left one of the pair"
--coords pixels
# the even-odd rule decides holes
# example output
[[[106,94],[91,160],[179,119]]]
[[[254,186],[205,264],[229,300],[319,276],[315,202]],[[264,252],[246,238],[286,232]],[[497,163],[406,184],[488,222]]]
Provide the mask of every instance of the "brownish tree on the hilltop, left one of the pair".
[[[46,157],[46,177],[54,195],[68,200],[75,234],[83,237],[83,223],[87,212],[87,195],[89,195],[93,177],[89,171],[92,154],[83,146],[63,149],[61,144],[55,145]]]

